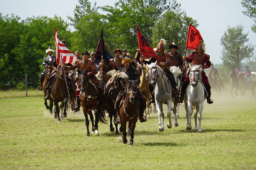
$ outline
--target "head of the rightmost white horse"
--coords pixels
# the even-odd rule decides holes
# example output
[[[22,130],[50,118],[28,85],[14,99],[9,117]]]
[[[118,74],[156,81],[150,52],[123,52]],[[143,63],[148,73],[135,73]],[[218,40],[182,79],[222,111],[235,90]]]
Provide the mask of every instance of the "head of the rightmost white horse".
[[[190,66],[190,73],[189,73],[189,80],[192,87],[196,87],[199,80],[202,80],[202,68],[200,65],[194,65],[193,67]]]

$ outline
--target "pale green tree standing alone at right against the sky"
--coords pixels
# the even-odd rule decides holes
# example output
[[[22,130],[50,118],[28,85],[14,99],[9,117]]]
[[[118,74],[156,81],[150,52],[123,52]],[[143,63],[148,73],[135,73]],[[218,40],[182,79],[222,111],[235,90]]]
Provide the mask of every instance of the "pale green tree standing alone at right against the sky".
[[[244,27],[237,25],[236,27],[227,27],[220,39],[220,44],[223,46],[222,64],[229,68],[234,69],[237,65],[241,66],[242,60],[250,60],[254,58],[254,45],[246,43],[249,41],[247,38],[248,33],[243,33]]]

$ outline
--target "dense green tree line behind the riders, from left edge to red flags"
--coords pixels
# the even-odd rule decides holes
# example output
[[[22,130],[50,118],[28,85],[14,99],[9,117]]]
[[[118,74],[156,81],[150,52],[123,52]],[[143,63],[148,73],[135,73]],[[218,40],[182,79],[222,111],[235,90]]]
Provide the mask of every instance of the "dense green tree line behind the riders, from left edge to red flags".
[[[42,62],[47,56],[45,50],[50,45],[54,49],[54,29],[58,29],[59,39],[66,40],[71,52],[95,50],[104,29],[104,40],[109,51],[126,48],[132,56],[138,48],[136,25],[149,43],[156,47],[161,38],[174,41],[185,51],[189,23],[198,23],[181,10],[176,0],[119,0],[115,5],[97,6],[88,0],[78,0],[70,23],[61,17],[28,17],[21,20],[13,14],[0,13],[0,88],[15,88],[24,78],[14,75],[37,75],[29,80],[38,83]],[[99,12],[102,10],[106,14]],[[72,25],[75,31],[68,28]],[[166,49],[168,49],[166,47]],[[3,79],[3,77],[5,77]],[[7,77],[7,78],[6,78]],[[33,87],[34,88],[34,87]]]

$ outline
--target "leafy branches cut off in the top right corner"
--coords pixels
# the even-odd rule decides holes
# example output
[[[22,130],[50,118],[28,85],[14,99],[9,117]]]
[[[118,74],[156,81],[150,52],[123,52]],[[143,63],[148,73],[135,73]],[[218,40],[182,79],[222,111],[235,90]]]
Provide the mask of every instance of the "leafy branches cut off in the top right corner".
[[[247,9],[242,13],[254,20],[251,30],[256,33],[256,0],[242,0],[242,6]]]

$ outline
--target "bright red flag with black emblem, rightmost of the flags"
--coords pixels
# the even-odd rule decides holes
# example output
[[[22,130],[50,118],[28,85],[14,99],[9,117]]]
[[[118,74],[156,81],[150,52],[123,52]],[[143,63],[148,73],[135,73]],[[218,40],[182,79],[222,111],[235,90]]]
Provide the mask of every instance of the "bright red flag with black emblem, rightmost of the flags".
[[[196,50],[200,40],[203,41],[200,32],[190,23],[188,27],[188,37],[186,38],[186,49]]]

